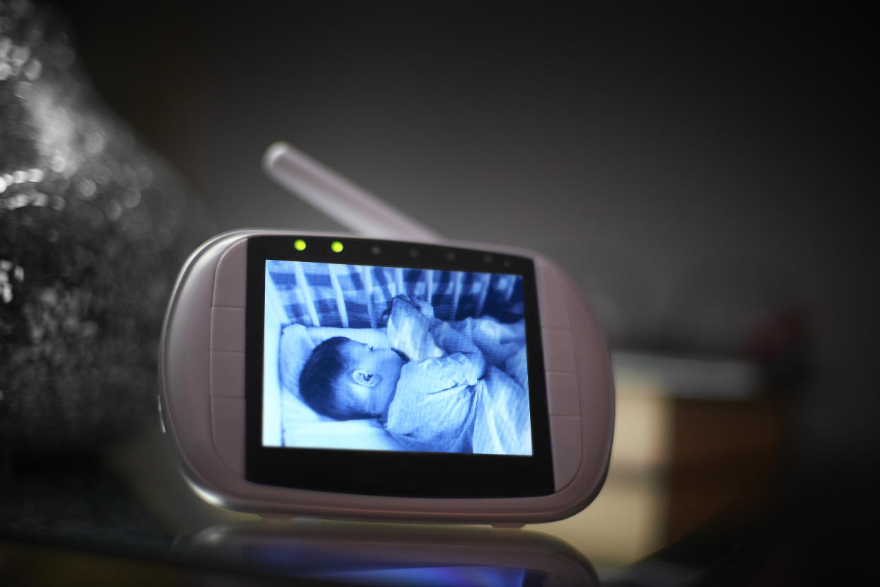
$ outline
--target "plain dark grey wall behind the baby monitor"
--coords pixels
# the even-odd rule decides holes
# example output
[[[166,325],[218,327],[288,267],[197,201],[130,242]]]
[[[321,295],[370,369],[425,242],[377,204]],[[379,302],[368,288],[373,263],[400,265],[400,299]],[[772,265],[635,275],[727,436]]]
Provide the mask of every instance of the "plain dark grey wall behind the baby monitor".
[[[807,436],[816,447],[873,437],[867,14],[649,3],[59,10],[107,102],[222,228],[338,228],[260,171],[268,144],[286,140],[448,237],[555,258],[618,348],[727,353],[794,317],[811,349]]]

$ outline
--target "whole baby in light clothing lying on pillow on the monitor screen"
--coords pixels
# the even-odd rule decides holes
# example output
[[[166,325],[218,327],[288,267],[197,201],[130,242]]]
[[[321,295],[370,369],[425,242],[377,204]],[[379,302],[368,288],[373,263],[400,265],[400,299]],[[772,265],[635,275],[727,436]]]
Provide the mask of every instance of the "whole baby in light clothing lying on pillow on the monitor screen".
[[[444,322],[429,305],[395,297],[386,331],[391,348],[321,342],[300,374],[305,402],[336,420],[378,417],[407,450],[473,452],[487,369],[473,320]]]

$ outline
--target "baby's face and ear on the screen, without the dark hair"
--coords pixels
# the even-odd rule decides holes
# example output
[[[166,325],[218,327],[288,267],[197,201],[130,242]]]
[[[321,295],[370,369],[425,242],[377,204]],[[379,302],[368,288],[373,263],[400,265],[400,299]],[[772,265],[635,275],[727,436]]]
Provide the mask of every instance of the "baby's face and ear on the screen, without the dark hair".
[[[377,349],[363,342],[348,341],[341,346],[346,357],[343,377],[348,384],[345,401],[365,414],[381,415],[400,378],[404,359],[394,349]]]

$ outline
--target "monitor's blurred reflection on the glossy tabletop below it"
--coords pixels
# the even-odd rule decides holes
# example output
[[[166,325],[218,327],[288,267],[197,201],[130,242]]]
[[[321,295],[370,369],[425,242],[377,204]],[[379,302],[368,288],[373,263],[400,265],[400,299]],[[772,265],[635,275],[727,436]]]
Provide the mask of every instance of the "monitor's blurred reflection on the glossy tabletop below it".
[[[180,539],[175,554],[239,569],[345,585],[598,585],[583,554],[546,534],[441,525],[293,520],[217,525]],[[336,584],[336,583],[333,583]]]

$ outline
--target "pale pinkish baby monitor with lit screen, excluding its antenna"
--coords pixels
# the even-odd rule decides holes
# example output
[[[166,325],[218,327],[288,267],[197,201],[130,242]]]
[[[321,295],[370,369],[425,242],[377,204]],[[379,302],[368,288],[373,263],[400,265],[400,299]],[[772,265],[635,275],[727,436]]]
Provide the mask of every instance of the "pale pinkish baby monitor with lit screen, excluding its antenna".
[[[514,249],[220,235],[181,273],[162,378],[188,479],[233,509],[543,521],[610,454],[595,320]]]

